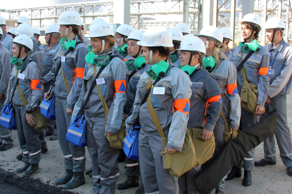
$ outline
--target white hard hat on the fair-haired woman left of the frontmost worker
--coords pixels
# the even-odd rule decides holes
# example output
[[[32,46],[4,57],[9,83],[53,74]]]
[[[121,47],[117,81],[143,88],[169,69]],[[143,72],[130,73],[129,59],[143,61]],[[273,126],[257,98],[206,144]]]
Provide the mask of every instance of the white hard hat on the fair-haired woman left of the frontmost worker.
[[[89,29],[89,38],[101,36],[114,36],[112,26],[107,23],[94,23]]]

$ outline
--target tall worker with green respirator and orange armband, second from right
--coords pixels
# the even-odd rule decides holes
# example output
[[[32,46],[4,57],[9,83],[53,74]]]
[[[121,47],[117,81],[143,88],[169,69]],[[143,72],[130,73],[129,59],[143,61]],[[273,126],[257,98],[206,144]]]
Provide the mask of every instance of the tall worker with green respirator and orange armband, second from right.
[[[260,20],[256,14],[247,14],[240,21],[241,35],[244,42],[240,42],[234,48],[231,62],[237,67],[242,60],[253,50],[255,51],[251,57],[244,63],[243,67],[246,72],[246,80],[248,83],[257,85],[258,94],[256,101],[255,113],[250,113],[245,109],[241,109],[240,130],[246,130],[256,124],[264,110],[264,105],[267,101],[269,90],[269,53],[267,49],[258,46],[257,37],[261,30]],[[242,68],[237,71],[237,86],[238,92],[241,93],[243,86]],[[240,95],[240,94],[239,94]],[[234,166],[228,174],[226,180],[241,177],[241,166],[244,169],[244,178],[242,185],[245,187],[252,185],[252,170],[254,169],[254,155],[255,148],[251,149],[248,154],[243,158],[243,164],[239,162],[238,166]]]

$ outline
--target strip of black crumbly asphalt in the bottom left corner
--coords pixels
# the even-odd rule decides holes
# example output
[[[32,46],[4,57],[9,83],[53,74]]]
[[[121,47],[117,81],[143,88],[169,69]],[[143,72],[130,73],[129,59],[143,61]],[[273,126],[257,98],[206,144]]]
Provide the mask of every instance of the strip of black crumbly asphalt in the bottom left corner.
[[[51,185],[49,182],[43,182],[40,178],[36,177],[22,177],[16,173],[7,172],[0,168],[0,180],[17,187],[29,194],[78,194],[64,190],[63,187]]]

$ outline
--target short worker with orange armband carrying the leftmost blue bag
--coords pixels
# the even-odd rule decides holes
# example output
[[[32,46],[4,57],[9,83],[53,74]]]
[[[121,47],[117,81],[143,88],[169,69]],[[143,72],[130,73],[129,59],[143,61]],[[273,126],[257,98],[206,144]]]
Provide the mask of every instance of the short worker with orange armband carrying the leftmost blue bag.
[[[22,162],[24,162],[22,167],[16,169],[16,173],[22,176],[33,176],[39,172],[41,151],[39,130],[34,128],[37,120],[32,115],[32,111],[37,108],[41,99],[41,73],[37,64],[28,55],[28,51],[32,49],[33,41],[29,36],[18,35],[14,38],[11,58],[14,67],[9,78],[8,93],[4,103],[7,105],[11,100],[13,103],[18,140],[23,156]],[[18,86],[15,88],[16,83]],[[19,90],[28,103],[26,107],[20,98]]]

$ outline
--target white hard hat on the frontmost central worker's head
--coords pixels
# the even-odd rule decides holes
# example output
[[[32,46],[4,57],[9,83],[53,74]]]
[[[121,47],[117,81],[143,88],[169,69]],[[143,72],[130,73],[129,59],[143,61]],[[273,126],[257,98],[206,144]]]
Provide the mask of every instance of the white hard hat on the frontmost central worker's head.
[[[171,32],[164,27],[150,27],[143,34],[143,40],[137,42],[143,47],[173,47]]]

